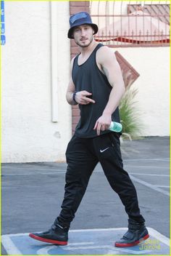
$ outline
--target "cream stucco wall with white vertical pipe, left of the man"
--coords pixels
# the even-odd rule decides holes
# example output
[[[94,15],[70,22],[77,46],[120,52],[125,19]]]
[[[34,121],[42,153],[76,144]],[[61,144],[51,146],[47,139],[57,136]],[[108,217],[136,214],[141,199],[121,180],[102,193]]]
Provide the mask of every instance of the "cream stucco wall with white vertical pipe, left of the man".
[[[6,1],[2,53],[2,162],[63,161],[71,137],[69,3],[57,2],[58,121],[51,121],[49,1]]]

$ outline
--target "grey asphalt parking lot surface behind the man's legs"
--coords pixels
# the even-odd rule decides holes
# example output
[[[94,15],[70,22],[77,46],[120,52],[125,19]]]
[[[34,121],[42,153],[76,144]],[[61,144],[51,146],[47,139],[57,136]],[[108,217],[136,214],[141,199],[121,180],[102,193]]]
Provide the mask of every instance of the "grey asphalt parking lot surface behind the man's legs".
[[[146,226],[169,238],[170,138],[126,140],[121,148]],[[57,162],[1,164],[1,234],[45,231],[51,226],[64,196],[66,167]],[[71,230],[127,225],[124,207],[98,164]],[[4,247],[1,255],[7,255]]]

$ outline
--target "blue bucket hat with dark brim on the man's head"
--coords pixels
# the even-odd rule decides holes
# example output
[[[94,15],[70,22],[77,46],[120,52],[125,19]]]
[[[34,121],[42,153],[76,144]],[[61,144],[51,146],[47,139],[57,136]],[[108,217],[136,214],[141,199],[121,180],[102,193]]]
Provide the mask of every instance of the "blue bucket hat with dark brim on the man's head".
[[[98,26],[92,23],[91,16],[88,14],[88,12],[78,12],[75,15],[72,15],[70,17],[70,29],[67,33],[67,37],[69,39],[73,39],[73,36],[72,36],[73,29],[78,25],[83,25],[83,24],[91,25],[94,31],[93,34],[97,33]]]

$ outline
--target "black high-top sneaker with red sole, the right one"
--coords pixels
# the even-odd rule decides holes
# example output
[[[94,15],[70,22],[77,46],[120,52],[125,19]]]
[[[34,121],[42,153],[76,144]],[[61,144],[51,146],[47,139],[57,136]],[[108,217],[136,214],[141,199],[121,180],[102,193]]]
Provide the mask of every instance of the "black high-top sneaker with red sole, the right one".
[[[134,220],[129,220],[128,231],[120,239],[115,242],[115,247],[134,247],[141,241],[149,238],[149,232],[144,223],[136,223]]]

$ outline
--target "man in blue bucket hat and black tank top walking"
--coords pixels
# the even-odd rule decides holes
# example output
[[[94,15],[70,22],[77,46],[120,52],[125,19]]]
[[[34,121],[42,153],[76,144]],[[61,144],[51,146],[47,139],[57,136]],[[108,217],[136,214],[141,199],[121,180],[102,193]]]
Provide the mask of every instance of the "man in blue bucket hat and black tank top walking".
[[[118,104],[125,92],[120,65],[109,47],[93,39],[98,27],[87,12],[70,17],[68,38],[74,39],[80,55],[71,61],[67,102],[79,105],[80,121],[67,145],[67,172],[62,211],[49,231],[30,237],[66,245],[70,223],[75,217],[88,180],[100,162],[112,189],[120,196],[128,214],[128,231],[116,247],[132,247],[149,237],[138,207],[135,187],[125,172],[120,153],[120,134],[109,131],[111,121],[120,122]]]

